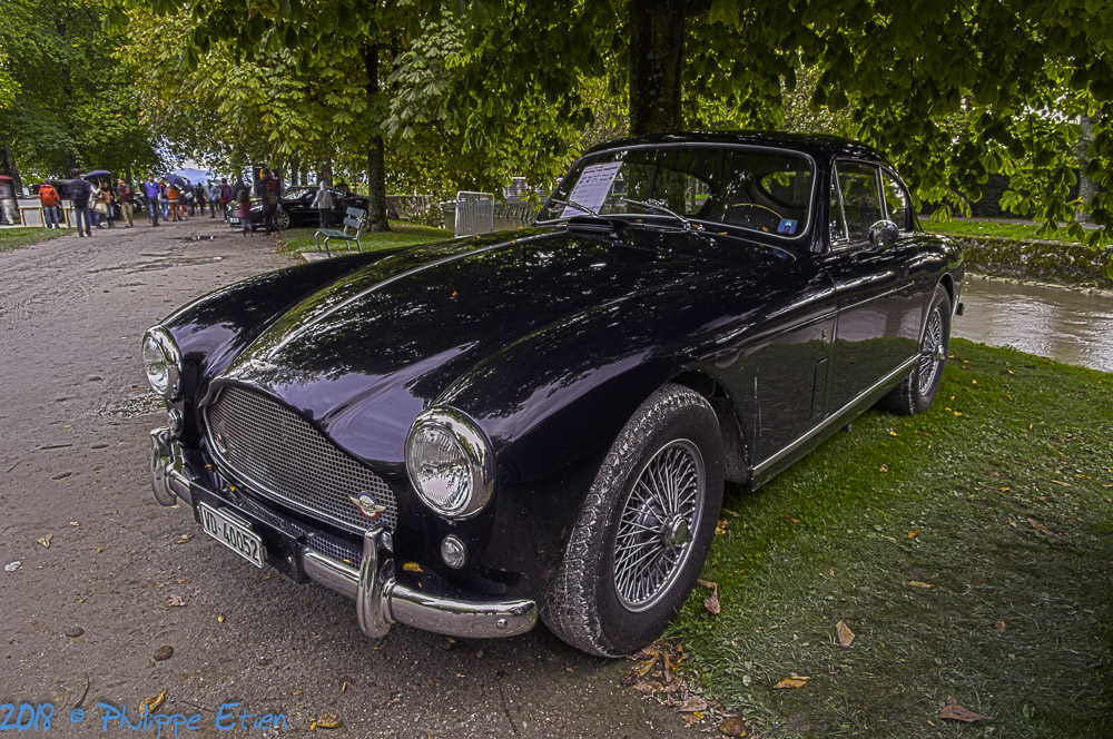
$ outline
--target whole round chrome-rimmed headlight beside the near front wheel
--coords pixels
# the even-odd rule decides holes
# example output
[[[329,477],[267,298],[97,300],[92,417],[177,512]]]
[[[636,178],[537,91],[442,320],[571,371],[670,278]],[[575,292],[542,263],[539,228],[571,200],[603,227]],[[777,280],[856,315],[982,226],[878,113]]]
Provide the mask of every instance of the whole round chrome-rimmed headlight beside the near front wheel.
[[[422,500],[451,519],[479,513],[494,489],[490,444],[455,408],[430,408],[417,416],[406,440],[406,471]]]

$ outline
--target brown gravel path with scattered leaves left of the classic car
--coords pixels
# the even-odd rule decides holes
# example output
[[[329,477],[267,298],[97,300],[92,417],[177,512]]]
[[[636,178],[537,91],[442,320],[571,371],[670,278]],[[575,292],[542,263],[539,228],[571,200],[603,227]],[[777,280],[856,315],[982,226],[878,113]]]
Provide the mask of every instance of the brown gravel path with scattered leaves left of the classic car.
[[[101,736],[98,702],[136,721],[164,689],[159,713],[201,716],[178,736],[228,736],[215,728],[228,702],[282,713],[289,732],[333,713],[337,736],[692,736],[619,684],[626,661],[543,628],[450,643],[395,627],[370,641],[352,601],[260,572],[155,503],[148,431],[162,418],[142,331],[286,264],[266,236],[208,218],[0,253],[0,703],[53,703],[62,737]],[[185,605],[166,608],[171,594]],[[173,656],[156,660],[164,646]],[[72,723],[78,707],[88,715]]]

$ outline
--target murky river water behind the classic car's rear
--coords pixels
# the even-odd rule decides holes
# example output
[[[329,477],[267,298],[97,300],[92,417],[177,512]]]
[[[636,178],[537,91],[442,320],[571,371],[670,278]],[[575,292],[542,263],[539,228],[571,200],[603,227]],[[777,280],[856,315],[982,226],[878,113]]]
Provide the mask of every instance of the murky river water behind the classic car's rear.
[[[1113,296],[968,277],[952,333],[1113,372]]]

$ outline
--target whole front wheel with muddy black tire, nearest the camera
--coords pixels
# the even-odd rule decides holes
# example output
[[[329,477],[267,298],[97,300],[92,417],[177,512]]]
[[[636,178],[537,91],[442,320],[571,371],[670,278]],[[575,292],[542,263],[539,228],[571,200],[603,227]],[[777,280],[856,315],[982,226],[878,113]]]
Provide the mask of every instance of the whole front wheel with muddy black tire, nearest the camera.
[[[541,618],[590,654],[620,657],[657,639],[683,604],[722,504],[715,411],[664,385],[631,416],[584,500]]]

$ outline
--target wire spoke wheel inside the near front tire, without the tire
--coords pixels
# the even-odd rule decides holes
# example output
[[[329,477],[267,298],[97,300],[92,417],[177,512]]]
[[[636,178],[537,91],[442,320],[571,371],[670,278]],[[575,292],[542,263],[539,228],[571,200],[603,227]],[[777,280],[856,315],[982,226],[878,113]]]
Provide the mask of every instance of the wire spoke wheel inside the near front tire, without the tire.
[[[638,473],[614,536],[614,589],[627,610],[652,608],[683,569],[706,476],[703,457],[687,440],[662,447]]]

